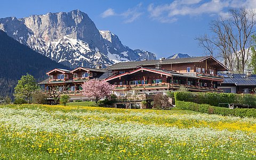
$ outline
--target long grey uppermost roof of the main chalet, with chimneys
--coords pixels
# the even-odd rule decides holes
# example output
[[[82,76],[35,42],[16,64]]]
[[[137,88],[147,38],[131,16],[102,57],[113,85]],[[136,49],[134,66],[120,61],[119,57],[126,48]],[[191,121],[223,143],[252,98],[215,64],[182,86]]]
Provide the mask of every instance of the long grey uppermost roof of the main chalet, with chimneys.
[[[191,63],[191,62],[202,62],[206,59],[212,58],[213,60],[217,61],[222,67],[227,69],[223,66],[218,60],[213,58],[212,56],[204,56],[204,57],[190,57],[190,58],[177,58],[177,59],[164,59],[164,60],[146,60],[146,61],[130,61],[130,62],[119,62],[115,65],[109,66],[107,69],[114,70],[114,69],[129,69],[129,68],[139,68],[142,66],[149,66],[149,65],[165,65],[165,64],[174,64],[174,63]],[[228,70],[228,69],[227,69]]]

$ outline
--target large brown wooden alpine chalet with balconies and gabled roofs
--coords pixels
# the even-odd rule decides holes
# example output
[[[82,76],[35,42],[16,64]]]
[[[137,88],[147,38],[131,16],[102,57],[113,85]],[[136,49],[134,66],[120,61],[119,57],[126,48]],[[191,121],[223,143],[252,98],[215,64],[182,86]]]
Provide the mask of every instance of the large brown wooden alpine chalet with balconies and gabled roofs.
[[[218,76],[217,73],[223,70],[227,68],[211,56],[121,62],[106,69],[54,69],[47,73],[49,81],[40,84],[44,84],[45,89],[54,85],[68,85],[70,94],[79,94],[85,81],[98,78],[115,85],[114,92],[118,96],[133,91],[155,94],[178,90],[180,87],[185,87],[188,91],[220,93],[222,90],[217,89],[217,85],[223,82],[223,76]],[[103,76],[105,73],[108,74]]]

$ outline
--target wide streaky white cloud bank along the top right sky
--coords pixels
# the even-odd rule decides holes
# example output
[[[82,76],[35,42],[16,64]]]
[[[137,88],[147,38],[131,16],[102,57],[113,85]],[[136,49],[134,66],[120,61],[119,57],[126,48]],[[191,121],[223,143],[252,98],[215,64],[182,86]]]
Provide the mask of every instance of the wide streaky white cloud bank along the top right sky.
[[[229,8],[246,7],[253,9],[256,7],[256,0],[181,0],[173,1],[169,4],[148,6],[149,17],[160,22],[173,22],[179,16],[196,16],[202,14],[227,16],[226,10]]]

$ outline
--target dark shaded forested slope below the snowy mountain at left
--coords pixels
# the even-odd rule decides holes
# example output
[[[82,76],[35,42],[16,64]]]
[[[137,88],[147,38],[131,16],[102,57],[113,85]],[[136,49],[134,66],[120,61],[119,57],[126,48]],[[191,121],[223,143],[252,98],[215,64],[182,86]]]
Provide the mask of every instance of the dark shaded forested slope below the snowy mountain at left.
[[[12,97],[13,87],[22,75],[29,73],[40,81],[46,77],[46,71],[54,68],[69,69],[20,44],[0,30],[0,96]]]

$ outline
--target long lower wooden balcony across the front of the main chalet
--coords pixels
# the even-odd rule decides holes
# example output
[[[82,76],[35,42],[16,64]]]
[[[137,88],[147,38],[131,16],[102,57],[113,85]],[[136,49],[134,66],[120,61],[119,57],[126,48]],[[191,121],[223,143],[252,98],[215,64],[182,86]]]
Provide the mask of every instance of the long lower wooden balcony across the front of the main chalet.
[[[158,89],[173,89],[178,90],[180,87],[186,87],[188,91],[196,91],[196,92],[217,92],[221,93],[222,90],[215,89],[212,87],[201,87],[194,85],[183,85],[183,84],[175,84],[175,83],[161,83],[161,84],[139,84],[139,85],[116,85],[116,91],[124,91],[124,90],[158,90]]]

